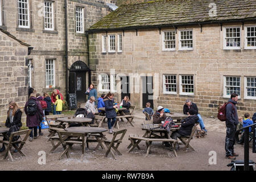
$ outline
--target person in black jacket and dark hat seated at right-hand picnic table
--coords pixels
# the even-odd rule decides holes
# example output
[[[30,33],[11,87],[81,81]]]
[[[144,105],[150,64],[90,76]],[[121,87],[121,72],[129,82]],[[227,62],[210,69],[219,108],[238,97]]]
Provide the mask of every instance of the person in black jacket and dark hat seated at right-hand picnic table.
[[[199,122],[199,117],[197,116],[197,111],[195,109],[188,110],[188,117],[181,120],[181,127],[178,131],[174,131],[171,135],[172,139],[177,139],[177,137],[189,136],[192,133],[192,127],[195,123]],[[179,144],[176,145],[176,149],[179,149]]]

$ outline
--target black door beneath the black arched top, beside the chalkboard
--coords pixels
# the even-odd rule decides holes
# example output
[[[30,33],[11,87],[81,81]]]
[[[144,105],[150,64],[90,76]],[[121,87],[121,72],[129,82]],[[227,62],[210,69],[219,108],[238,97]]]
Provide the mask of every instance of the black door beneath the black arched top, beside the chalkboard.
[[[76,97],[77,102],[86,102],[86,79],[85,72],[76,72]],[[97,99],[97,98],[96,98]]]

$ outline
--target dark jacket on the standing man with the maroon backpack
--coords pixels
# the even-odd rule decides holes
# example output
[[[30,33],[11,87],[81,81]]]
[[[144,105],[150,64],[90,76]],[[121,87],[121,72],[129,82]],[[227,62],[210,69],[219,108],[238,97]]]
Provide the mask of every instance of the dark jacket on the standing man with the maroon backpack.
[[[229,103],[226,105],[226,127],[238,125],[239,123],[238,115],[237,115],[237,107],[236,107],[237,102],[233,101],[232,99],[230,99],[228,102],[233,103],[234,109],[232,104]]]

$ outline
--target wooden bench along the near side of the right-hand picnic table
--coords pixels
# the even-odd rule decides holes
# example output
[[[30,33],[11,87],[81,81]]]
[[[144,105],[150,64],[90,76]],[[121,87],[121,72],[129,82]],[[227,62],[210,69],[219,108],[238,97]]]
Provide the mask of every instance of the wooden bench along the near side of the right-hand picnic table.
[[[142,140],[146,141],[146,144],[147,144],[147,154],[146,154],[146,156],[148,156],[148,154],[150,152],[152,142],[171,142],[171,147],[172,147],[172,150],[174,151],[174,155],[177,156],[177,152],[176,152],[176,149],[175,149],[176,144],[177,144],[177,140],[175,140],[175,139],[135,137],[135,136],[132,136],[132,135],[129,136],[129,139],[130,139],[131,144],[133,146],[133,147],[131,147],[129,152],[133,151],[134,148],[137,147],[138,144]]]

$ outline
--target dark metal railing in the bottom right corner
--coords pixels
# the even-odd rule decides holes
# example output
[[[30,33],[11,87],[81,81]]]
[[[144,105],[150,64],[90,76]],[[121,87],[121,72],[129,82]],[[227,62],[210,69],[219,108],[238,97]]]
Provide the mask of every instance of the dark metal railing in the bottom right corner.
[[[243,127],[240,130],[237,130],[235,133],[235,139],[238,142],[239,141],[239,137],[238,135],[240,134],[241,130],[243,131],[243,137],[245,140],[244,143],[244,170],[245,171],[249,171],[249,129],[251,127],[251,132],[253,133],[253,153],[256,153],[256,133],[255,133],[255,127],[256,127],[256,123],[254,123],[253,125],[249,125],[246,127]]]

